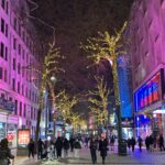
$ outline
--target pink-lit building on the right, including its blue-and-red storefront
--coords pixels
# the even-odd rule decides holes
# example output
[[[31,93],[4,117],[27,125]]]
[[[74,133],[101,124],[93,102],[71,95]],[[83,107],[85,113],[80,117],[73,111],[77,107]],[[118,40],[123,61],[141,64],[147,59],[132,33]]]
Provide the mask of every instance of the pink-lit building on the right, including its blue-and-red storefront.
[[[165,0],[135,0],[130,15],[136,135],[165,135]]]

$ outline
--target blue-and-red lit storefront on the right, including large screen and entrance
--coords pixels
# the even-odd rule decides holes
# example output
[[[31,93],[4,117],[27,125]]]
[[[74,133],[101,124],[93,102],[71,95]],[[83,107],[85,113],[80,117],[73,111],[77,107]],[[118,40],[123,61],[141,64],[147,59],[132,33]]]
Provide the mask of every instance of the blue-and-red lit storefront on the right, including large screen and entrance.
[[[134,92],[136,136],[165,135],[164,85],[162,68]]]

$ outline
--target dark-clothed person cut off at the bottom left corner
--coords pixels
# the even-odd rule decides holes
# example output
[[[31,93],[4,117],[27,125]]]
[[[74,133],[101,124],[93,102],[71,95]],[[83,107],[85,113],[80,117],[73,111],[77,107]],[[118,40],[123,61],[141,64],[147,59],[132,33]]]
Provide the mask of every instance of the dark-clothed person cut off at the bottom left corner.
[[[0,165],[9,165],[10,158],[14,160],[14,156],[11,154],[11,150],[8,147],[8,140],[3,139],[0,143]]]

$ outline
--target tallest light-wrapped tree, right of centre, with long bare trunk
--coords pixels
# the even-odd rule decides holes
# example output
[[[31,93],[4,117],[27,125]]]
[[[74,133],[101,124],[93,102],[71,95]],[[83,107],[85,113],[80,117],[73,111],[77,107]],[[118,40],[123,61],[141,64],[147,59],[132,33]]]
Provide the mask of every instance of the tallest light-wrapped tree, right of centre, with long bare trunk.
[[[88,58],[91,58],[95,64],[99,64],[101,59],[107,59],[112,67],[113,88],[118,114],[119,154],[122,152],[120,147],[122,142],[122,132],[117,59],[119,55],[125,53],[123,51],[123,42],[121,42],[121,38],[127,24],[128,23],[124,22],[122,29],[119,32],[116,32],[114,35],[110,35],[108,31],[105,33],[98,32],[98,37],[89,37],[87,40],[87,44],[81,44],[81,47],[89,53]]]

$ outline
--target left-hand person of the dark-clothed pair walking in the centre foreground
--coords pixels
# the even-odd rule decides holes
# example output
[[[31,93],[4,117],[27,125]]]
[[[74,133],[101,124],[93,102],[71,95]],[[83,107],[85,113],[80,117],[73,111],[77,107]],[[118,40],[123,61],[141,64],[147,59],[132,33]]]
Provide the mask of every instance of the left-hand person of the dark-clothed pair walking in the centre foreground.
[[[91,138],[89,148],[90,148],[90,155],[91,155],[92,164],[96,164],[97,163],[98,142],[95,138]]]

